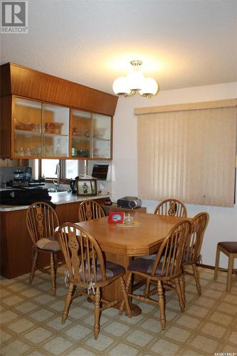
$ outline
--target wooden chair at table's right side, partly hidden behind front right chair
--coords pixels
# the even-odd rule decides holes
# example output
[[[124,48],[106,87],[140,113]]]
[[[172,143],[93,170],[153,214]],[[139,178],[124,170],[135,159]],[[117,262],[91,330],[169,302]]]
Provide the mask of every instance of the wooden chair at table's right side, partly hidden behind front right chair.
[[[186,245],[184,247],[184,255],[182,261],[182,269],[185,271],[185,266],[191,266],[196,282],[196,290],[199,295],[201,295],[201,285],[199,281],[199,272],[196,268],[196,264],[200,263],[201,258],[201,245],[204,239],[204,233],[206,226],[209,223],[209,214],[206,212],[201,212],[196,214],[191,221],[191,234],[186,240]],[[185,273],[188,273],[185,271]],[[184,297],[185,298],[185,297]]]

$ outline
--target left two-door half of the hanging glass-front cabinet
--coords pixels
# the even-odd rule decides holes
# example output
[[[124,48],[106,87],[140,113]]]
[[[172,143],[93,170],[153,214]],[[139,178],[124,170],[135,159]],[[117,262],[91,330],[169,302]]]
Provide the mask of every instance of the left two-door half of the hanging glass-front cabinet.
[[[68,158],[69,108],[15,96],[12,100],[11,157]]]

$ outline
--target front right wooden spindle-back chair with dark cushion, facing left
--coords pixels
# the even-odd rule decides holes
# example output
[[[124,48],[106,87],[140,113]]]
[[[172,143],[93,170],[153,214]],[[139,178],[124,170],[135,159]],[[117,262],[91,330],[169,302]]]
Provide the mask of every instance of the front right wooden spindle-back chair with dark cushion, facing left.
[[[142,256],[133,260],[127,268],[129,276],[127,278],[126,290],[127,295],[140,300],[142,302],[159,305],[160,322],[162,330],[165,329],[165,300],[164,286],[167,285],[175,288],[179,298],[181,311],[184,311],[184,300],[182,295],[184,290],[181,290],[184,283],[180,283],[181,278],[181,261],[184,252],[184,244],[189,236],[191,222],[183,220],[176,224],[169,234],[165,236],[162,245],[156,255]],[[143,295],[129,293],[132,290],[132,276],[139,276],[146,279]],[[150,289],[151,284],[156,286]],[[152,295],[158,294],[158,301],[151,298]],[[121,308],[123,308],[122,302]]]

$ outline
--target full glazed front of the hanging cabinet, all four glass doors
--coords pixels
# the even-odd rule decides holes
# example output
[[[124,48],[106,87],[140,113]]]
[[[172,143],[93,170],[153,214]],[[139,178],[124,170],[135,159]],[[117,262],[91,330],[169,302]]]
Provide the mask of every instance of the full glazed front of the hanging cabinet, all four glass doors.
[[[71,109],[70,122],[63,106],[16,97],[13,103],[13,157],[111,159],[112,117]]]

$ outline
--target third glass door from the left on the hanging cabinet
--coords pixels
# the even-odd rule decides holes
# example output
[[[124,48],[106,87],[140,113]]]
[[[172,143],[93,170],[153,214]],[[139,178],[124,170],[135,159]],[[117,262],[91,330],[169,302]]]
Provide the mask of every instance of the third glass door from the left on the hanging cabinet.
[[[90,112],[72,110],[72,157],[91,157],[92,125],[93,120]]]

